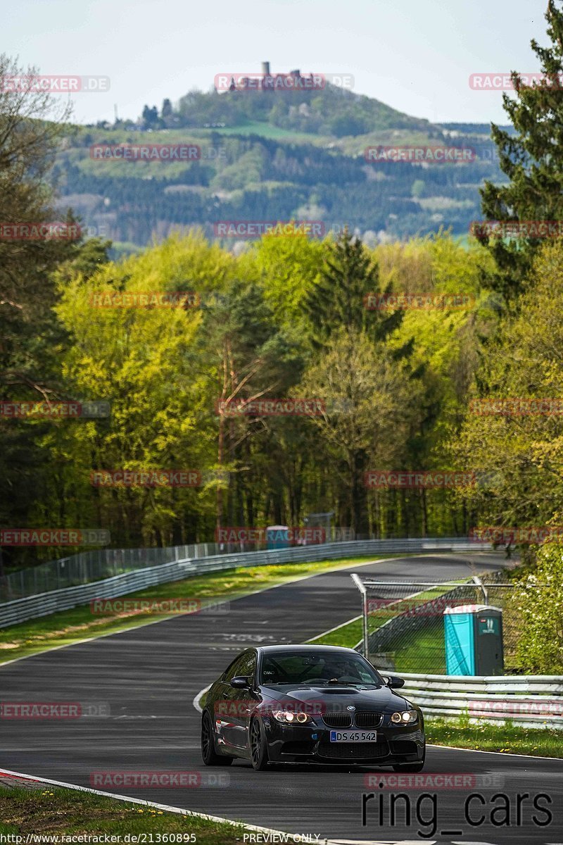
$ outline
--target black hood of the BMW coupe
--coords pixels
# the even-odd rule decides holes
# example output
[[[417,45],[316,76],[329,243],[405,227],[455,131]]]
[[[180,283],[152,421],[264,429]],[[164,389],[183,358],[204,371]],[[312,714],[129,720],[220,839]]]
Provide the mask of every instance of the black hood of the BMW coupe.
[[[356,710],[364,711],[395,711],[397,709],[408,709],[413,705],[397,695],[387,686],[373,687],[371,690],[356,689],[351,686],[309,686],[306,684],[295,684],[290,687],[287,684],[276,684],[275,686],[264,686],[262,688],[264,698],[276,701],[278,704],[295,703],[315,706],[321,702],[328,711],[342,710],[347,706],[355,706]]]

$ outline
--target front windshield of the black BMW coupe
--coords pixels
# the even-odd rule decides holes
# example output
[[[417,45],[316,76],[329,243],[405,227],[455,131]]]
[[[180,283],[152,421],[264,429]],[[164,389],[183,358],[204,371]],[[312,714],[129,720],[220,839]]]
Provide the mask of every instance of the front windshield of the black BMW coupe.
[[[359,654],[337,651],[279,651],[264,654],[262,684],[381,686],[376,670]]]

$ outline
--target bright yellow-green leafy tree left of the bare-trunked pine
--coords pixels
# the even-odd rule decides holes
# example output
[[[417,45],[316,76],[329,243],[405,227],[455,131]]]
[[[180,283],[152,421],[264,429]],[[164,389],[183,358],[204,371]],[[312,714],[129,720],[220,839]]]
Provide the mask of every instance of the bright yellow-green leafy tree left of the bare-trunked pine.
[[[200,237],[171,237],[126,261],[102,264],[60,283],[57,314],[72,338],[64,371],[81,398],[111,401],[111,417],[58,427],[51,466],[60,473],[47,506],[69,500],[75,521],[89,516],[119,547],[172,545],[206,538],[213,506],[205,488],[92,489],[100,469],[195,469],[214,462],[208,364],[197,355],[199,308],[92,308],[93,294],[198,292],[225,285],[234,262]],[[150,283],[147,280],[150,279]]]

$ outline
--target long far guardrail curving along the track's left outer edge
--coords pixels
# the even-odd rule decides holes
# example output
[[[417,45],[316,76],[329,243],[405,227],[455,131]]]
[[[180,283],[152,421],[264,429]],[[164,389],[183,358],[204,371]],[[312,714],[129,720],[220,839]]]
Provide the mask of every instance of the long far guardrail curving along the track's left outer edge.
[[[223,553],[205,558],[172,560],[170,563],[124,572],[122,575],[114,575],[102,581],[38,593],[35,596],[18,598],[12,602],[1,602],[0,628],[25,622],[27,619],[46,616],[49,613],[57,613],[60,610],[70,610],[80,604],[87,604],[95,598],[125,596],[127,593],[144,590],[149,586],[165,584],[169,581],[181,581],[181,579],[188,578],[190,575],[232,570],[239,566],[268,566],[300,561],[338,560],[370,554],[479,552],[489,551],[490,548],[488,544],[468,542],[463,537],[409,537],[399,540],[329,542],[322,545],[298,546],[270,551]]]

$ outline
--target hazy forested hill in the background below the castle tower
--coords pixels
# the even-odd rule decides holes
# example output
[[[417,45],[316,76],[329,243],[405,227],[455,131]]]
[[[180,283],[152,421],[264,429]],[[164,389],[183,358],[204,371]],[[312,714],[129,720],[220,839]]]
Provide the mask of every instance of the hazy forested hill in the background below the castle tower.
[[[485,131],[484,131],[485,130]],[[120,145],[199,148],[197,158],[130,158]],[[371,161],[378,145],[469,147],[471,161]],[[97,151],[96,151],[97,150]],[[103,154],[100,153],[102,150]],[[327,84],[313,91],[192,91],[145,106],[138,123],[73,127],[57,156],[61,208],[116,253],[219,221],[322,221],[376,243],[480,217],[479,185],[501,181],[486,125],[438,126]],[[225,243],[233,243],[233,239]]]

